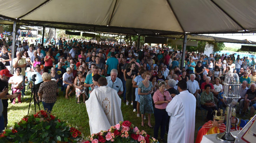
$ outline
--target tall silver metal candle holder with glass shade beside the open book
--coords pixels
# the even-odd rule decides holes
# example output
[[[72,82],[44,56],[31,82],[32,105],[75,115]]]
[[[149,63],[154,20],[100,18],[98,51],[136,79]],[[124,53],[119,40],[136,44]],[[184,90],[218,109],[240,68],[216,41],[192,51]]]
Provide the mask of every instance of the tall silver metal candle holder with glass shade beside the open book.
[[[241,83],[239,83],[239,76],[237,73],[228,73],[225,77],[222,94],[223,101],[227,106],[227,123],[226,131],[216,135],[216,138],[222,142],[234,143],[236,136],[230,133],[231,128],[231,117],[232,117],[232,107],[236,105],[240,98]]]

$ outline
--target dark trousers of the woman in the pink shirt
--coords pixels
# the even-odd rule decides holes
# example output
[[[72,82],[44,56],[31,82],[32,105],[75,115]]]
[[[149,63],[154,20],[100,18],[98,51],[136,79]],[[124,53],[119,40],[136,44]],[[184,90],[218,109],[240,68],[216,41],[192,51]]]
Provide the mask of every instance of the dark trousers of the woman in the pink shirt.
[[[158,130],[159,130],[159,127],[161,126],[160,137],[161,139],[164,139],[165,126],[168,119],[168,113],[166,112],[165,109],[155,108],[154,116],[155,116],[154,138],[157,139]]]

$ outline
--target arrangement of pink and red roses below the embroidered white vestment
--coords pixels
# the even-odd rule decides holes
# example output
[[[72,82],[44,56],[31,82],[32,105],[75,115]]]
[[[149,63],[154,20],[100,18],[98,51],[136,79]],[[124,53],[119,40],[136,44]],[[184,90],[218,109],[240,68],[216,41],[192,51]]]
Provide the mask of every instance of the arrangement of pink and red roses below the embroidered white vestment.
[[[119,122],[107,131],[92,134],[84,143],[158,143],[154,137],[129,121]]]

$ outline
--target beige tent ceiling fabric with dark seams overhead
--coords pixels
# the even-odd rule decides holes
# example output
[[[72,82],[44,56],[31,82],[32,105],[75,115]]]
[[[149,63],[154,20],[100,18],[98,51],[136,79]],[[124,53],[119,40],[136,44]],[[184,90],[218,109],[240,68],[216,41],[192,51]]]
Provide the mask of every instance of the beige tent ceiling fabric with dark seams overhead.
[[[56,28],[62,29],[69,26],[75,30],[79,25],[78,30],[92,27],[90,30],[98,32],[142,35],[256,31],[255,0],[0,0],[0,3],[3,18],[20,18],[17,22],[35,26],[54,27],[57,23]]]

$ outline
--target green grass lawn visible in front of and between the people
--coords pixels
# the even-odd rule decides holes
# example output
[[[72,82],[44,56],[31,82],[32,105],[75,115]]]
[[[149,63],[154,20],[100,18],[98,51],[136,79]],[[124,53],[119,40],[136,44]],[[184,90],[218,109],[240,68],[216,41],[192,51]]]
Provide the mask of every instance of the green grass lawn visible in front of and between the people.
[[[8,125],[7,128],[10,128],[14,126],[15,122],[19,122],[23,116],[27,115],[28,108],[29,108],[29,99],[30,99],[30,93],[28,95],[24,96],[23,103],[21,104],[9,104],[8,107]],[[81,100],[82,101],[82,100]],[[75,98],[75,95],[73,93],[73,97],[70,99],[65,99],[63,96],[63,92],[59,93],[59,97],[57,99],[57,102],[53,106],[52,113],[55,116],[58,116],[61,120],[66,120],[71,126],[77,126],[79,130],[85,135],[90,135],[90,127],[89,127],[89,119],[88,114],[86,111],[85,104],[77,104],[77,100]],[[36,111],[39,111],[38,106],[36,106]],[[40,109],[43,109],[42,103],[40,103]],[[122,102],[121,105],[122,114],[124,117],[124,120],[129,120],[132,122],[135,126],[138,127],[140,130],[145,130],[148,134],[151,136],[154,135],[154,129],[150,129],[147,126],[148,120],[144,122],[144,127],[141,127],[141,117],[137,117],[137,112],[133,112],[132,106],[126,106],[124,102]],[[30,113],[33,114],[35,112],[35,106],[32,104],[30,107]],[[205,112],[205,111],[203,111]],[[247,114],[248,115],[248,114]],[[239,116],[238,116],[239,117]],[[248,119],[249,117],[246,116],[242,119]],[[151,116],[151,124],[152,126],[155,125],[155,119],[154,115]],[[200,111],[198,111],[198,114],[196,116],[196,125],[195,125],[195,140],[197,136],[197,130],[198,127],[202,126],[204,124],[202,120],[202,116]],[[158,140],[160,139],[160,131],[158,133]],[[167,134],[165,134],[165,139],[167,139]]]

